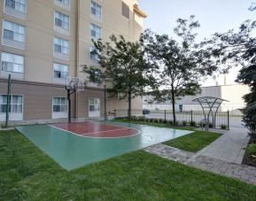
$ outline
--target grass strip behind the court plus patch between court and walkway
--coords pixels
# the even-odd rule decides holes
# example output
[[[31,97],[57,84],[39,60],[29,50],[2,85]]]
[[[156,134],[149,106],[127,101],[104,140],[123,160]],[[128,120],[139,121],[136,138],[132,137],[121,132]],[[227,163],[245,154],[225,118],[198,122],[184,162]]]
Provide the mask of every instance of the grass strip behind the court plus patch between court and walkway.
[[[160,128],[175,128],[175,129],[183,129],[183,130],[194,130],[193,127],[172,127],[169,124],[164,123],[154,123],[154,122],[145,122],[145,121],[128,121],[128,120],[116,120],[120,122],[130,122],[134,124],[142,124],[148,125],[153,127],[160,127]],[[215,134],[211,132],[205,131],[197,131],[189,134],[180,136],[173,140],[167,141],[165,144],[169,146],[173,146],[183,151],[191,151],[191,152],[198,152],[205,148],[208,144],[213,143],[217,138],[219,138],[221,134]]]

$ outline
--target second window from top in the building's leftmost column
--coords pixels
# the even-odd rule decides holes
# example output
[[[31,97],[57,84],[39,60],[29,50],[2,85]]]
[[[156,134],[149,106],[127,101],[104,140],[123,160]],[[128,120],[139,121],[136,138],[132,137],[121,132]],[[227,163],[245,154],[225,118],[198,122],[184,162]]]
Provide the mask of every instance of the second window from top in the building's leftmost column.
[[[25,43],[25,27],[4,20],[4,39]]]

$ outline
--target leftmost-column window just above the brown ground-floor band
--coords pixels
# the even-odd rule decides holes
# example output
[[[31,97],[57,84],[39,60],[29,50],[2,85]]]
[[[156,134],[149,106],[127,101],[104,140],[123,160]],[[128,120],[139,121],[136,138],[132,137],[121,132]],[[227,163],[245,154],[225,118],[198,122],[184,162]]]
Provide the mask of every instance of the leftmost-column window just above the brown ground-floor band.
[[[2,52],[2,71],[24,73],[24,57]]]

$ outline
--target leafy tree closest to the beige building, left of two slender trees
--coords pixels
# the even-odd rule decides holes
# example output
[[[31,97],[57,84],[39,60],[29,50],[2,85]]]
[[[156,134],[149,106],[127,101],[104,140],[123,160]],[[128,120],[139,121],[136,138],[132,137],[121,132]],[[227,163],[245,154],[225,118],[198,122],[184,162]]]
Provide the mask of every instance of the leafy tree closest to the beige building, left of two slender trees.
[[[131,119],[131,101],[141,96],[149,81],[150,66],[144,60],[144,51],[140,42],[128,42],[120,35],[111,35],[110,42],[93,42],[97,54],[98,66],[83,66],[83,72],[89,74],[91,81],[102,84],[111,82],[108,89],[110,97],[119,95],[128,99],[128,120]]]

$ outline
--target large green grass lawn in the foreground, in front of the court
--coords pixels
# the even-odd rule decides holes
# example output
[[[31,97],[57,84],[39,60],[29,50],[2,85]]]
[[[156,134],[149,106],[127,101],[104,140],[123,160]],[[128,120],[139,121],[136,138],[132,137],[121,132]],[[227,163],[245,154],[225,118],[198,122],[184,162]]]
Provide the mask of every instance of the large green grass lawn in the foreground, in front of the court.
[[[17,131],[0,133],[0,200],[256,200],[256,187],[132,152],[67,172]]]

